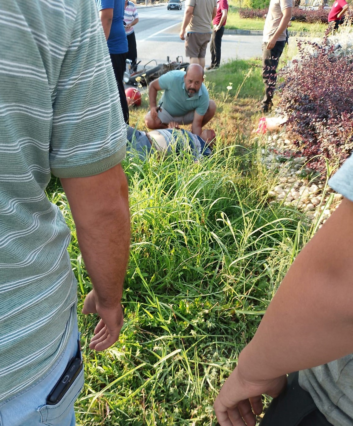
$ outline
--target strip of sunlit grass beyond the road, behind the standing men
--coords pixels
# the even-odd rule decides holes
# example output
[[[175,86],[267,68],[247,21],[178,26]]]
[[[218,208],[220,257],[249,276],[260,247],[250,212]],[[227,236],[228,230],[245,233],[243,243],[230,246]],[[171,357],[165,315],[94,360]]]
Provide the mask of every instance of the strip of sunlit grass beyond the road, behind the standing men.
[[[227,29],[263,30],[264,19],[243,19],[239,16],[238,6],[229,6],[227,16]],[[311,35],[323,34],[327,29],[326,24],[309,24],[305,22],[292,22],[289,31],[310,32]]]

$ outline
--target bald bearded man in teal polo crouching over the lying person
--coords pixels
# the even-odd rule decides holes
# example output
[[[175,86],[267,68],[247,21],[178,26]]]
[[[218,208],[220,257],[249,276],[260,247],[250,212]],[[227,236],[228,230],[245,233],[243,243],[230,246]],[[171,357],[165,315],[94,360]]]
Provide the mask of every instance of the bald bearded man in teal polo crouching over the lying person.
[[[145,123],[149,129],[178,128],[192,124],[191,132],[201,135],[202,127],[215,115],[215,101],[210,100],[204,81],[204,69],[197,63],[187,72],[176,70],[161,75],[149,84],[149,108]],[[157,94],[164,90],[159,106]]]

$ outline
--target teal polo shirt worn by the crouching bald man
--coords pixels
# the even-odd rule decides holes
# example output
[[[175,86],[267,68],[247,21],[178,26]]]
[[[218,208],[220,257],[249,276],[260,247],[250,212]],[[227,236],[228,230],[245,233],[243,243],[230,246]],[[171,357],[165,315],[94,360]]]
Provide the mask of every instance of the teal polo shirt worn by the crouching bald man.
[[[205,115],[210,104],[206,86],[202,83],[200,90],[192,98],[189,98],[185,90],[185,71],[169,71],[159,78],[159,86],[164,90],[161,98],[163,107],[170,115],[181,117],[189,111],[196,111],[199,115]]]

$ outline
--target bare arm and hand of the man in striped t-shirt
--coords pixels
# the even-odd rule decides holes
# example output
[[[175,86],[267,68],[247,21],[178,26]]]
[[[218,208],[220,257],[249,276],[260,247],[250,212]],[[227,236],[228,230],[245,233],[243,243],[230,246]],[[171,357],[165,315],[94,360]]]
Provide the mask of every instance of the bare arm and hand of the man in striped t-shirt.
[[[90,348],[113,345],[123,325],[121,296],[129,258],[128,185],[120,164],[86,178],[61,179],[76,225],[77,240],[93,290],[83,313],[98,313]]]

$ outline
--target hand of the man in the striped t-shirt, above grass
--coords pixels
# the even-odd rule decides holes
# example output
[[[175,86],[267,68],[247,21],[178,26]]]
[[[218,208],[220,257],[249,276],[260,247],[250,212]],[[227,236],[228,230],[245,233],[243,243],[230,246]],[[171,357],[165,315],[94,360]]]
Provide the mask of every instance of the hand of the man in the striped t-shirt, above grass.
[[[98,314],[100,316],[100,321],[95,327],[95,334],[91,339],[89,348],[95,349],[95,351],[103,351],[114,345],[118,340],[124,323],[121,303],[117,302],[114,306],[103,307],[99,304],[95,291],[92,290],[85,298],[82,313],[85,315]]]

